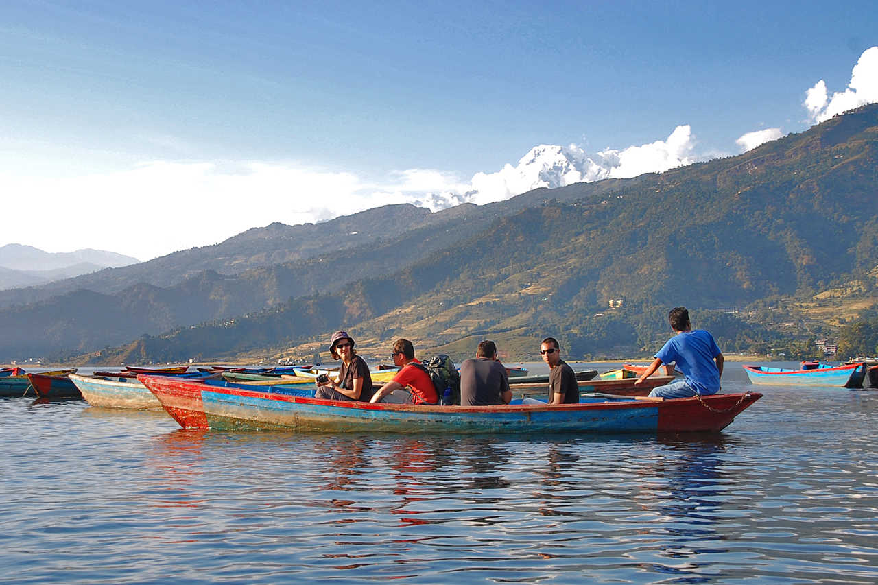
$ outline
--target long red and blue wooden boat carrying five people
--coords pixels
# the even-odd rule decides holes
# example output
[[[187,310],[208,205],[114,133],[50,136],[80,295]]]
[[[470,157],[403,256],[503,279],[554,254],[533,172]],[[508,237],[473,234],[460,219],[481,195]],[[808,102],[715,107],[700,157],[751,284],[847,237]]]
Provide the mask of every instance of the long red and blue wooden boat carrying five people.
[[[448,407],[325,401],[139,376],[184,429],[399,433],[660,433],[719,431],[762,394],[674,399],[598,397],[560,406]]]

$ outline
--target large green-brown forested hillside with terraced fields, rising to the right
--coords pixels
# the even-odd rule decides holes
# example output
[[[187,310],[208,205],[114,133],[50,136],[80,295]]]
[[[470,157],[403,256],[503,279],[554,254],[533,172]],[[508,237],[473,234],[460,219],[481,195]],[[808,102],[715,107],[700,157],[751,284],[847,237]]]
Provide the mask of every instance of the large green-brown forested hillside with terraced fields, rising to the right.
[[[675,305],[727,329],[726,343],[764,345],[788,334],[765,319],[748,323],[746,312],[721,317],[725,307],[776,307],[851,281],[871,298],[876,147],[870,105],[745,155],[543,190],[536,206],[531,193],[518,199],[531,206],[443,249],[418,258],[394,249],[398,271],[337,292],[317,285],[262,313],[144,336],[104,356],[306,357],[339,327],[377,354],[399,335],[461,351],[462,340],[494,336],[521,352],[552,333],[573,355],[594,356],[650,347]]]

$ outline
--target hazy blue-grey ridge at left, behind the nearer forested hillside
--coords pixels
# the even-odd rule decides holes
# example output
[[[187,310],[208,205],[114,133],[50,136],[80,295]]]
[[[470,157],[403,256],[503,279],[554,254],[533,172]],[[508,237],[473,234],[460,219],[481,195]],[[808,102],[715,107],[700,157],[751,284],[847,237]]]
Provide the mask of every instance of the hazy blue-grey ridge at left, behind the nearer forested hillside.
[[[584,186],[601,193],[637,180]],[[135,336],[271,309],[315,292],[335,292],[479,234],[498,217],[538,205],[548,192],[530,191],[487,206],[466,204],[438,213],[399,205],[316,226],[273,224],[148,263],[0,292],[0,300],[21,303],[0,309],[0,320],[8,324],[0,329],[0,360],[88,351]],[[315,233],[319,237],[309,239]],[[358,243],[362,238],[367,243]],[[280,256],[306,257],[265,265]],[[216,265],[227,272],[194,270]],[[158,286],[156,281],[176,284]],[[122,285],[126,286],[119,290]]]

